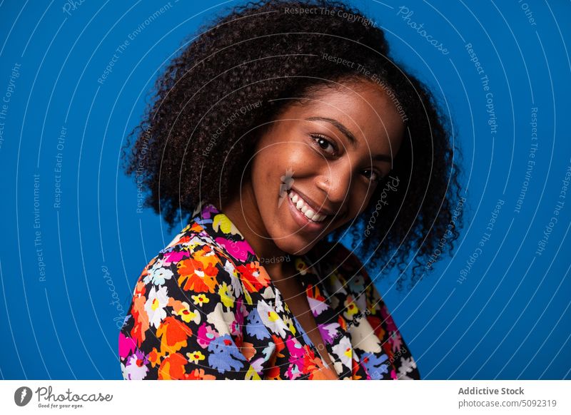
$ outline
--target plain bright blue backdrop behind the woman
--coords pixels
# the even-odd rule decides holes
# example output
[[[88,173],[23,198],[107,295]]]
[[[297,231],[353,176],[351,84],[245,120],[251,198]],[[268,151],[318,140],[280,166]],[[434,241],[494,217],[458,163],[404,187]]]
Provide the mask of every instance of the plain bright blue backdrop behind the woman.
[[[0,4],[0,99],[9,100],[0,118],[3,379],[121,379],[116,343],[124,313],[116,305],[128,307],[141,270],[180,228],[168,232],[150,210],[136,212],[137,189],[121,172],[120,148],[163,65],[221,9],[215,1],[86,1],[66,13],[65,4]],[[560,198],[571,163],[570,3],[410,0],[408,20],[397,1],[353,4],[385,29],[393,56],[433,88],[463,149],[467,222],[454,257],[410,292],[395,290],[394,275],[378,281],[421,376],[570,379],[571,193]],[[145,24],[161,6],[167,10]],[[424,24],[450,53],[410,22]],[[490,81],[496,133],[467,43]],[[535,165],[515,212],[528,160]],[[460,283],[498,200],[504,205],[490,239]],[[538,255],[558,200],[564,205]],[[120,302],[112,304],[113,296]]]

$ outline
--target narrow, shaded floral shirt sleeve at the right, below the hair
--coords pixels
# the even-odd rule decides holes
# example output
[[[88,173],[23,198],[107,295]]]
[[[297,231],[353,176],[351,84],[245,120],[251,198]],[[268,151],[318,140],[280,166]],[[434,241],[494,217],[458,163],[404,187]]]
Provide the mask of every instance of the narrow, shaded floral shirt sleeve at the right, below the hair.
[[[393,379],[420,379],[415,359],[367,270],[353,252],[343,245],[340,245],[340,250],[341,260],[346,259],[345,268],[351,270],[347,287],[355,297],[360,314],[365,314],[375,336],[380,339],[381,347],[395,370],[391,376]]]

